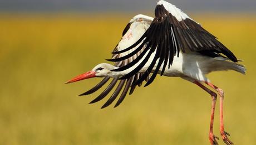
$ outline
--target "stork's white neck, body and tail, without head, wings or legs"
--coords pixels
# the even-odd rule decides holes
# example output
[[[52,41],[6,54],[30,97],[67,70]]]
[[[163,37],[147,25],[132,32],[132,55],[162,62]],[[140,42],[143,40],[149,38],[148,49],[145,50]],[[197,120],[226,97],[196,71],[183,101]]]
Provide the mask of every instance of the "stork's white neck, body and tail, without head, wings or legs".
[[[154,53],[152,54],[154,55]],[[139,73],[144,73],[147,68],[149,68],[149,65],[151,64],[152,57],[149,59],[149,61],[145,64],[145,66],[139,71]],[[159,60],[156,61],[156,64]],[[137,63],[137,65],[139,65]],[[110,76],[113,78],[119,78],[121,76],[124,76],[128,74],[132,69],[136,68],[137,65],[134,65],[134,67],[124,70],[124,71],[110,71],[109,74],[102,75],[101,77]],[[156,66],[152,69],[152,72],[155,71]],[[100,64],[97,65],[95,68],[109,68],[111,69],[118,69],[115,66],[112,66],[110,64]],[[163,65],[161,65],[158,74],[161,74],[161,71],[163,70]],[[210,80],[206,77],[207,74],[213,72],[213,71],[228,71],[228,70],[234,70],[238,71],[239,73],[245,74],[245,68],[242,65],[239,65],[237,63],[230,62],[227,58],[218,57],[218,58],[210,58],[209,56],[204,56],[199,53],[189,53],[184,54],[180,53],[179,57],[174,56],[173,65],[170,66],[170,68],[167,68],[164,70],[164,76],[169,77],[181,77],[183,79],[188,80],[196,80],[196,81],[208,81]],[[151,73],[152,73],[151,72]]]

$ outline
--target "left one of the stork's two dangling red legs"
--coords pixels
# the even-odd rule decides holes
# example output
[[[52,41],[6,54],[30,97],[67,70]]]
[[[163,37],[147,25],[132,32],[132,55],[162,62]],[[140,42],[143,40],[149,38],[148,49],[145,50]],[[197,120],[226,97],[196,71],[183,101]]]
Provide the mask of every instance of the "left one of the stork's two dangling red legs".
[[[216,100],[217,100],[217,94],[215,92],[211,91],[210,89],[208,89],[207,87],[205,87],[204,85],[202,85],[198,81],[196,81],[194,83],[211,95],[212,102],[211,102],[211,122],[210,122],[209,140],[210,140],[211,145],[217,145],[218,142],[216,141],[216,139],[219,139],[219,138],[214,136],[214,134],[213,134],[214,111],[215,111],[215,105],[216,105]]]

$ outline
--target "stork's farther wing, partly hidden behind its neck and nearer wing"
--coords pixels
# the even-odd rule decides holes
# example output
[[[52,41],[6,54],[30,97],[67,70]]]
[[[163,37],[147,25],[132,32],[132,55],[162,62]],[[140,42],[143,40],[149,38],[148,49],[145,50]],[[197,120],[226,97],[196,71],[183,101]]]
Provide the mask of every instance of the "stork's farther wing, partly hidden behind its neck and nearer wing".
[[[144,15],[136,15],[133,19],[131,19],[130,23],[128,23],[126,25],[124,32],[122,33],[122,38],[121,38],[119,44],[116,45],[114,52],[124,50],[125,48],[127,48],[128,46],[134,44],[137,40],[139,40],[141,38],[141,36],[149,28],[149,26],[152,22],[152,19],[153,18],[146,17]],[[137,46],[135,46],[134,48],[131,48],[129,51],[125,51],[124,53],[113,54],[112,59],[122,58],[123,56],[134,52],[136,49],[137,49]],[[115,66],[119,67],[119,68],[126,66],[127,64],[134,61],[137,58],[137,56],[139,56],[144,49],[145,49],[145,46],[142,46],[141,50],[134,53],[134,55],[132,57],[115,63]],[[141,76],[142,76],[142,74],[134,74],[134,75],[131,75],[130,77],[127,77],[124,80],[119,80],[118,78],[112,79],[109,86],[107,86],[106,89],[98,97],[96,97],[96,99],[94,99],[90,103],[95,103],[95,102],[98,102],[98,101],[104,99],[110,93],[110,91],[113,90],[114,87],[118,84],[114,93],[111,95],[109,100],[107,100],[107,102],[101,108],[105,108],[105,107],[109,106],[112,102],[115,101],[117,96],[119,96],[119,94],[122,92],[119,99],[116,102],[115,107],[119,106],[120,103],[125,99],[125,96],[127,95],[129,89],[130,89],[129,94],[131,95],[132,92],[134,92],[136,86],[141,86],[142,82],[137,85],[132,85],[137,80],[139,80]],[[147,77],[147,78],[149,79],[149,77]],[[110,77],[105,77],[99,84],[97,84],[91,90],[81,94],[80,96],[90,95],[93,92],[96,92],[110,80],[111,80]],[[147,79],[145,79],[145,80],[147,80]]]

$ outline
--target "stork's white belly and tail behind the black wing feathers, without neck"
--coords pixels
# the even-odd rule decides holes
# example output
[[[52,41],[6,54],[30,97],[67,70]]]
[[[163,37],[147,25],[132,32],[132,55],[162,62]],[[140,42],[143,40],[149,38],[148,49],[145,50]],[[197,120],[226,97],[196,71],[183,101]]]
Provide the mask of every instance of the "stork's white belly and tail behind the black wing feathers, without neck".
[[[159,70],[163,70],[163,65]],[[190,78],[196,81],[208,81],[207,74],[213,71],[235,70],[242,74],[245,73],[243,66],[228,61],[225,58],[210,58],[199,53],[180,53],[180,56],[174,57],[173,65],[165,69],[165,76]]]

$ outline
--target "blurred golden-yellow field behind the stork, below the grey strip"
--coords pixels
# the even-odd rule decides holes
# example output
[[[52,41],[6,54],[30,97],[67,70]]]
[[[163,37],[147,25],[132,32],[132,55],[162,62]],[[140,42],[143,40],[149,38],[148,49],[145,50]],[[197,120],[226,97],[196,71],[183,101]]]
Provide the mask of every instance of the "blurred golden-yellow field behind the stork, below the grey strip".
[[[248,71],[209,78],[225,91],[230,139],[256,144],[256,17],[219,15],[195,20],[243,59]],[[130,17],[0,15],[0,144],[209,144],[211,99],[190,82],[158,77],[120,107],[104,110],[105,102],[87,104],[100,92],[76,96],[101,79],[64,85],[111,57]]]

